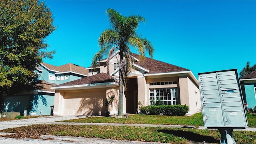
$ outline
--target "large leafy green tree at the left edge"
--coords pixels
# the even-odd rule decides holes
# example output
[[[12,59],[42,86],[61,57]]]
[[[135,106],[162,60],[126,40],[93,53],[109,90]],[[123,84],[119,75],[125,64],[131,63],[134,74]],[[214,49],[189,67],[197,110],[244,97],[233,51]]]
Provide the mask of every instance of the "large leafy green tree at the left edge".
[[[53,32],[50,9],[38,0],[0,2],[0,86],[1,93],[24,90],[37,78],[34,70],[42,58],[52,58],[46,50],[46,36]],[[1,94],[2,96],[2,94]]]

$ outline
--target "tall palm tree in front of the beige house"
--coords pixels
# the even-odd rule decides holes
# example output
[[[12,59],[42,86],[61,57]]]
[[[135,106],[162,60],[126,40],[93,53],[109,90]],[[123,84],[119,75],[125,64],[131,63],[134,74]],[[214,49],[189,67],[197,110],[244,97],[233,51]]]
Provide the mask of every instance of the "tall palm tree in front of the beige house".
[[[111,26],[100,34],[98,43],[100,51],[94,55],[92,59],[92,67],[99,65],[99,61],[105,56],[107,58],[107,66],[109,57],[116,50],[119,50],[119,98],[118,98],[118,116],[123,115],[123,89],[126,89],[128,75],[132,69],[132,52],[130,46],[136,48],[140,59],[145,57],[148,52],[153,57],[154,48],[150,41],[136,34],[136,29],[140,22],[146,20],[142,16],[122,16],[114,9],[107,9],[106,14],[109,17]]]

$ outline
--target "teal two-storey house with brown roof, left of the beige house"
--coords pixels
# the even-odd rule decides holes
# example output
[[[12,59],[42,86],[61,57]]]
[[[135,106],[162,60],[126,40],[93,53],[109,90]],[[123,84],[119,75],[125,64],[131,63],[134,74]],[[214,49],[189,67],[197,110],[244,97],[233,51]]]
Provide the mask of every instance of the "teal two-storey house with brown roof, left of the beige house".
[[[32,115],[50,115],[54,106],[54,90],[50,87],[88,76],[88,70],[75,64],[53,66],[41,63],[36,68],[38,80],[31,84],[31,90],[13,96],[4,96],[5,112],[16,111]]]

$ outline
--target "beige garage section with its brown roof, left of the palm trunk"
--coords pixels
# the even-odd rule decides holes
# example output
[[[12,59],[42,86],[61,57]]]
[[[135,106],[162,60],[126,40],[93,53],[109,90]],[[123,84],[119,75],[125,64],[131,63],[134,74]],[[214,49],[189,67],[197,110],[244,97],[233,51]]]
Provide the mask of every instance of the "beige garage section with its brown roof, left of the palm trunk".
[[[105,115],[105,100],[115,95],[108,111],[117,112],[119,83],[105,73],[51,87],[54,94],[54,114]]]

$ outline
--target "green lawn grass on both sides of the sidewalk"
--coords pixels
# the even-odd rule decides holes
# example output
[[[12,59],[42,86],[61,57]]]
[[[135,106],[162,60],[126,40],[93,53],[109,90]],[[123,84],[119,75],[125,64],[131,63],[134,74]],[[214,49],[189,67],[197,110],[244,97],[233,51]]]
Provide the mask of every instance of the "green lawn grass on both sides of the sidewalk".
[[[247,114],[250,127],[256,127],[256,116]],[[134,114],[129,118],[88,117],[62,122],[126,123],[126,124],[170,124],[203,126],[202,113],[193,116],[153,116]],[[163,142],[187,144],[192,142],[209,142],[218,144],[218,130],[200,130],[196,128],[161,128],[138,126],[88,126],[88,125],[48,125],[38,124],[19,128],[9,128],[0,132],[14,132],[4,137],[40,138],[41,135],[76,136],[87,138],[104,138],[113,140],[131,140],[146,142]],[[256,144],[256,132],[234,131],[237,144]]]

